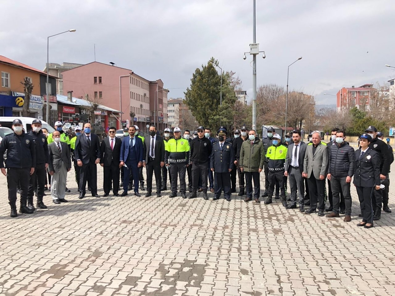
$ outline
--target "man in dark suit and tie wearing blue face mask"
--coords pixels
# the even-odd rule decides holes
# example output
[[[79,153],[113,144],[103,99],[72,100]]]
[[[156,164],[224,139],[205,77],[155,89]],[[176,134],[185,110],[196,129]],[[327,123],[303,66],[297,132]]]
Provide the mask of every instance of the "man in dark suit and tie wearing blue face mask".
[[[75,159],[77,165],[81,167],[79,174],[79,199],[85,196],[85,187],[89,178],[90,189],[93,197],[100,197],[98,195],[97,186],[97,167],[100,162],[100,141],[99,137],[90,133],[92,126],[90,123],[84,125],[84,133],[77,137],[75,141]]]

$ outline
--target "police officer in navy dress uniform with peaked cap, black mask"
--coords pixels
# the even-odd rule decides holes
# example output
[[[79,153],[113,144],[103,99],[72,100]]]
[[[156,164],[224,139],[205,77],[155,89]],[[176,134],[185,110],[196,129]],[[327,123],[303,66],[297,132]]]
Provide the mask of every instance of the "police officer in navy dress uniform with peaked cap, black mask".
[[[210,155],[210,169],[214,172],[214,198],[218,200],[224,188],[224,198],[230,201],[231,181],[230,172],[233,169],[233,149],[232,144],[226,142],[226,129],[220,127],[217,132],[218,141],[214,143]]]

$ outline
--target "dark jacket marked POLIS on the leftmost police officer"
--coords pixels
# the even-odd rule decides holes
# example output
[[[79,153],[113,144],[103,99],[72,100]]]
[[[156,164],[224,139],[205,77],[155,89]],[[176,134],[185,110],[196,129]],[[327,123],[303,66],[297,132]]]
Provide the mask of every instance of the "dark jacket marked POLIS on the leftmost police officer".
[[[6,168],[36,167],[34,139],[22,131],[6,135],[0,144],[0,168],[4,168],[4,152],[7,150]]]

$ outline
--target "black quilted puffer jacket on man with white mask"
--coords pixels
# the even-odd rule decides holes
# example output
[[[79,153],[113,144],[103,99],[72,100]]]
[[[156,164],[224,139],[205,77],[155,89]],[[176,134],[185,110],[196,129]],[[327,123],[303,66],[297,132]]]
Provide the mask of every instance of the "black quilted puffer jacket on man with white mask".
[[[355,154],[354,148],[346,142],[329,146],[328,174],[334,177],[354,175]]]

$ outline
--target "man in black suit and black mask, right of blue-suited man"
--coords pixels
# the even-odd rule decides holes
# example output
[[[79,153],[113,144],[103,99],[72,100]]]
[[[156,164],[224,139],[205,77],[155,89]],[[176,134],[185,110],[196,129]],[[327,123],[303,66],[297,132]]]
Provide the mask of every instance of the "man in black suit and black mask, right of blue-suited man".
[[[165,165],[165,142],[163,138],[156,135],[156,126],[149,127],[149,136],[144,138],[143,145],[143,166],[147,169],[147,194],[150,197],[152,192],[152,174],[155,172],[156,197],[161,197],[162,188],[162,167]]]

